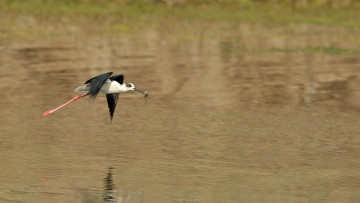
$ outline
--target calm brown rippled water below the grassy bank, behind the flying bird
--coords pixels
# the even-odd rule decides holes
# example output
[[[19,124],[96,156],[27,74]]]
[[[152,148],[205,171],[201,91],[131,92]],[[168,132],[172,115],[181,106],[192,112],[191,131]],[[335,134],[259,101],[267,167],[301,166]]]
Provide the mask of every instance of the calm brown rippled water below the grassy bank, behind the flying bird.
[[[238,29],[3,42],[0,202],[360,202],[359,56],[238,53],[317,42]],[[40,118],[108,71],[148,103]]]

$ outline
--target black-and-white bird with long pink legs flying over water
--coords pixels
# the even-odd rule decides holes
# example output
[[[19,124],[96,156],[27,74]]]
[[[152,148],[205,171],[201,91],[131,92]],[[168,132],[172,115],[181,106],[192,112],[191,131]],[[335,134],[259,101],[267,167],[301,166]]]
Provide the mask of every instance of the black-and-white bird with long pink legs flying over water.
[[[55,111],[63,108],[64,106],[70,104],[73,101],[76,101],[82,97],[90,95],[90,100],[95,100],[98,94],[106,94],[106,99],[109,107],[110,120],[112,121],[116,104],[119,99],[119,94],[122,92],[128,91],[137,91],[141,94],[144,94],[144,98],[148,98],[148,93],[143,92],[139,89],[136,89],[133,83],[124,83],[124,75],[114,75],[110,77],[113,72],[104,73],[95,77],[90,78],[85,82],[84,86],[75,88],[75,92],[82,93],[78,95],[65,104],[62,104],[55,109],[44,112],[41,117],[48,116]]]

